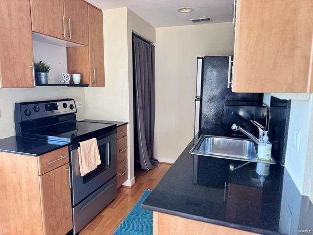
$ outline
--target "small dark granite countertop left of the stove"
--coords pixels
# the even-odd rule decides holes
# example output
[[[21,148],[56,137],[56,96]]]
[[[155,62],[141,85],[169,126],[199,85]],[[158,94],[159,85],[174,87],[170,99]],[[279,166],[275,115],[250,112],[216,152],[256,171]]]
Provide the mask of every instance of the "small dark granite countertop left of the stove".
[[[61,141],[47,141],[26,137],[11,136],[0,140],[0,152],[15,153],[29,156],[40,156],[67,146]]]

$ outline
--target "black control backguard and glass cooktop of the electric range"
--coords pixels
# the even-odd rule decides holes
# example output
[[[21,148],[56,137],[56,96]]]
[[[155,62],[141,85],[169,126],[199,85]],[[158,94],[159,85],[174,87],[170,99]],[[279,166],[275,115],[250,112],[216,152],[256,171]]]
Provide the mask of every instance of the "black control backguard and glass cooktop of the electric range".
[[[77,121],[76,112],[73,99],[16,103],[16,135],[77,142],[116,129],[116,125],[112,123]]]

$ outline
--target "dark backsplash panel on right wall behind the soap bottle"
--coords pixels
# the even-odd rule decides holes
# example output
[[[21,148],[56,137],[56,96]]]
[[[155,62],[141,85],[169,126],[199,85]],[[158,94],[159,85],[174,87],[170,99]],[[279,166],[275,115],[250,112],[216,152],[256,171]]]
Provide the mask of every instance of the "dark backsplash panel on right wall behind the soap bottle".
[[[291,100],[271,96],[268,137],[272,152],[280,164],[285,164]]]

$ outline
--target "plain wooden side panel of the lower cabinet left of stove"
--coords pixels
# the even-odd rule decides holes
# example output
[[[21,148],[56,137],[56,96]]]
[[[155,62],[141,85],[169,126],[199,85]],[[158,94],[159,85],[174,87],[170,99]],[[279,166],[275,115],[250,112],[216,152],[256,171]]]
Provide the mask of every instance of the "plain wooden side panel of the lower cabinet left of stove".
[[[0,162],[0,234],[42,235],[37,158],[0,152]]]

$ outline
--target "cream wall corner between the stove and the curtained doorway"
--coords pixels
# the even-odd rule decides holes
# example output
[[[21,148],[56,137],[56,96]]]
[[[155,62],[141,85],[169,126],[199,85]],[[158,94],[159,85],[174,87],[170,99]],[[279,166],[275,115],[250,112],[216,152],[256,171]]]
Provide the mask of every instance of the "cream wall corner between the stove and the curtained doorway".
[[[132,31],[155,42],[155,28],[124,8],[103,11],[104,88],[86,88],[86,118],[129,122],[128,181],[134,184],[134,120]]]

